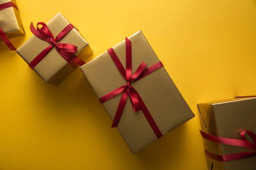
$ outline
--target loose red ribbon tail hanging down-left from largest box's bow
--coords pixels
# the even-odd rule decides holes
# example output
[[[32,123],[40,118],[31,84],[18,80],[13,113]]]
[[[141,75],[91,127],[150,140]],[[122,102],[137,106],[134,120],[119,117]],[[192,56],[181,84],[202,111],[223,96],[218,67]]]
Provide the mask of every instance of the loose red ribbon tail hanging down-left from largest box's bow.
[[[127,98],[128,98],[128,89],[125,88],[124,89],[124,92],[122,94],[122,97],[120,99],[120,102],[119,102],[119,105],[118,105],[118,108],[116,110],[116,114],[115,114],[115,117],[113,119],[113,123],[112,123],[112,126],[111,128],[113,127],[117,127],[119,122],[120,122],[120,119],[121,119],[121,116],[122,116],[122,112],[125,108],[125,103],[127,101]]]

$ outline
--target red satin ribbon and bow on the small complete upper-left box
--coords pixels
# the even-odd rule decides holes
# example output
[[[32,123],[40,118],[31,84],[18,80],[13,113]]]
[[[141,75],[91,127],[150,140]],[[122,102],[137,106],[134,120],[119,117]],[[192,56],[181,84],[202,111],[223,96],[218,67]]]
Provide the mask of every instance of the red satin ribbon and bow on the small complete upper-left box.
[[[38,26],[42,26],[39,28]],[[81,60],[79,57],[77,57],[74,53],[77,50],[77,47],[73,44],[64,44],[64,43],[58,43],[59,40],[61,40],[66,34],[68,34],[73,28],[75,28],[72,24],[67,25],[55,38],[53,37],[51,31],[47,27],[45,23],[37,23],[37,28],[33,26],[33,23],[30,24],[30,30],[31,32],[41,40],[44,40],[48,42],[50,45],[45,48],[40,54],[38,54],[35,59],[33,59],[29,63],[29,67],[31,69],[34,69],[36,65],[38,65],[39,62],[41,62],[44,57],[47,56],[47,54],[52,50],[53,47],[58,51],[58,53],[68,62],[76,62],[76,64],[82,66],[85,64],[83,60]],[[77,67],[77,66],[75,66]]]

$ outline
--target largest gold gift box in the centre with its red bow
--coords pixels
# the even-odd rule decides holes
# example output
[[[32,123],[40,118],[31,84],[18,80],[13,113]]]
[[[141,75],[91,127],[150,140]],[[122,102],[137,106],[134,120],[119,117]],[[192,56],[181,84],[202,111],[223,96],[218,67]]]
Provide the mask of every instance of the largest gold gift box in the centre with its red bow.
[[[132,153],[194,117],[142,31],[80,68]]]

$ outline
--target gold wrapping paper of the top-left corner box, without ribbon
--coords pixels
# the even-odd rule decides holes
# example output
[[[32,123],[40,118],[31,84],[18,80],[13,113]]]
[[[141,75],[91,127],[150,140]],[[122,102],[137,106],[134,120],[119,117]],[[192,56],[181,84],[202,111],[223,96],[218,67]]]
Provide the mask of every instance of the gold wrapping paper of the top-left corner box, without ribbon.
[[[8,2],[12,2],[17,5],[15,0],[0,0],[0,4]],[[25,34],[20,19],[20,13],[13,7],[0,10],[0,28],[6,33],[8,38]]]

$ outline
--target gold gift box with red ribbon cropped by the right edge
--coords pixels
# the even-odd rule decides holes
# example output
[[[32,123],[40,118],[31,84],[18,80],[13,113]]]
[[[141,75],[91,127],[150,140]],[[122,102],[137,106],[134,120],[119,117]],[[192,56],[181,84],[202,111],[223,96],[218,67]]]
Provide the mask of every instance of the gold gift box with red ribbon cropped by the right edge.
[[[198,110],[208,169],[256,170],[256,98],[201,103]]]

